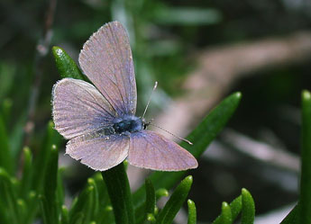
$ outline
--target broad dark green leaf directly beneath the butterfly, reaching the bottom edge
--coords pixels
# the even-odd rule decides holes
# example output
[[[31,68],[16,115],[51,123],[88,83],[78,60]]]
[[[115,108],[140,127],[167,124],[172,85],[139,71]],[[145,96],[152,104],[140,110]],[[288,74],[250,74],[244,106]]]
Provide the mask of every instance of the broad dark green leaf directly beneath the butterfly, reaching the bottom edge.
[[[133,202],[130,184],[123,163],[102,172],[114,208],[116,224],[134,224]]]

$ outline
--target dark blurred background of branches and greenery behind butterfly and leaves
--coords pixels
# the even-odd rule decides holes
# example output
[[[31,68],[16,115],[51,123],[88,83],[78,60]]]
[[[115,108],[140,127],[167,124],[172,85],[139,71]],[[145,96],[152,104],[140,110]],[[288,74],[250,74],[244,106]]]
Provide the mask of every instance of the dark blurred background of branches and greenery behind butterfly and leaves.
[[[25,144],[39,149],[51,119],[59,74],[50,48],[77,61],[88,37],[113,20],[130,36],[137,115],[158,81],[147,119],[185,137],[226,95],[242,92],[232,120],[189,172],[199,223],[214,220],[221,202],[242,187],[254,197],[257,224],[279,223],[297,202],[300,93],[311,89],[311,0],[2,0],[0,104],[12,104],[5,122],[15,157]],[[74,195],[93,171],[62,152]],[[143,175],[130,167],[133,189]],[[185,214],[176,223],[185,223]]]

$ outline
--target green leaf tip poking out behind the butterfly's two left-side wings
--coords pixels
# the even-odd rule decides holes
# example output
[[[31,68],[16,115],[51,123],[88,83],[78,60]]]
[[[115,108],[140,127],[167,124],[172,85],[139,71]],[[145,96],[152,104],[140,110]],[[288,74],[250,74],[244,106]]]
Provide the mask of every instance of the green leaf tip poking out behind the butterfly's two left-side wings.
[[[75,61],[69,57],[64,49],[54,46],[52,48],[55,58],[56,67],[59,69],[59,75],[62,78],[71,77],[84,80],[80,69],[78,69]]]

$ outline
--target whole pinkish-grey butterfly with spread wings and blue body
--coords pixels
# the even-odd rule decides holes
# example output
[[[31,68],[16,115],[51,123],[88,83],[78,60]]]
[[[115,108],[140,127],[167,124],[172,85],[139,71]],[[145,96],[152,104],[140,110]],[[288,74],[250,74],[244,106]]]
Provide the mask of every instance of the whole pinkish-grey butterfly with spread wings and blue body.
[[[52,89],[55,129],[69,139],[66,154],[105,171],[125,158],[133,166],[160,171],[197,167],[185,148],[146,130],[135,116],[136,81],[129,39],[120,22],[99,28],[80,51],[78,62],[94,84],[63,78]]]

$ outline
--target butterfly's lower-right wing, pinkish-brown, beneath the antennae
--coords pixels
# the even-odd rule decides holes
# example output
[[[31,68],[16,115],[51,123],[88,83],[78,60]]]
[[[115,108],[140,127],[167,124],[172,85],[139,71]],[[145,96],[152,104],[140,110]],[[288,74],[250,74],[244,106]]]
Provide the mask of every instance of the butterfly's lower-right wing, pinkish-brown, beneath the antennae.
[[[131,134],[128,161],[133,166],[161,171],[197,167],[197,159],[185,148],[151,130]]]

